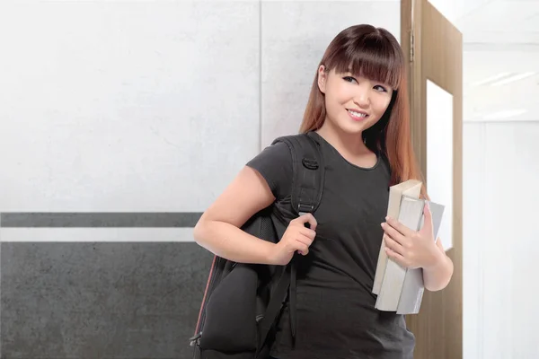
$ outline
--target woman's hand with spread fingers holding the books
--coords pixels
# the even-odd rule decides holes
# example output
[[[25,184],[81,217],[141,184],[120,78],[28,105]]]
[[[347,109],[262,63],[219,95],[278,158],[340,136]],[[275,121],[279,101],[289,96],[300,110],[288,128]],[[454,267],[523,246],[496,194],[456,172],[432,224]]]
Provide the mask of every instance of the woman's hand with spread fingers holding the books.
[[[382,223],[385,252],[403,267],[434,267],[443,255],[434,241],[432,215],[427,204],[423,214],[425,219],[420,231],[413,231],[391,217],[385,217],[387,222]]]

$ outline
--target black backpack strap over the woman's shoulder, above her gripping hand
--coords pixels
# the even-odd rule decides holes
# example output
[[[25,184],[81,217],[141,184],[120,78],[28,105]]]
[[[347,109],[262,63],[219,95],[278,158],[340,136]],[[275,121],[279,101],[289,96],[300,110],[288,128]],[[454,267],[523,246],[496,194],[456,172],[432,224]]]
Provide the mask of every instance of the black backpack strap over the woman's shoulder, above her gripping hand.
[[[312,213],[320,205],[325,167],[320,146],[313,134],[278,137],[273,144],[284,142],[292,153],[292,207],[296,215]]]

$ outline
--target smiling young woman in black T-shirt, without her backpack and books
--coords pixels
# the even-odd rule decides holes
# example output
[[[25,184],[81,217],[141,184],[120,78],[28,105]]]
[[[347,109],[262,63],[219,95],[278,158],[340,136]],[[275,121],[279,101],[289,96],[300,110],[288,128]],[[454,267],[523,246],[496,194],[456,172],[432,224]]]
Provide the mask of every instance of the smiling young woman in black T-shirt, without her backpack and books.
[[[375,309],[372,288],[384,232],[390,258],[422,267],[430,291],[453,273],[435,241],[429,208],[419,232],[385,218],[389,186],[421,179],[412,151],[402,48],[370,25],[341,31],[317,68],[300,132],[312,131],[326,167],[321,205],[293,220],[278,244],[239,227],[262,208],[290,203],[292,162],[274,144],[248,162],[202,215],[196,241],[243,263],[286,265],[303,256],[297,273],[297,330],[287,307],[271,355],[278,359],[408,359],[414,336],[402,315]],[[421,197],[427,197],[422,188]],[[310,228],[305,227],[310,223]]]

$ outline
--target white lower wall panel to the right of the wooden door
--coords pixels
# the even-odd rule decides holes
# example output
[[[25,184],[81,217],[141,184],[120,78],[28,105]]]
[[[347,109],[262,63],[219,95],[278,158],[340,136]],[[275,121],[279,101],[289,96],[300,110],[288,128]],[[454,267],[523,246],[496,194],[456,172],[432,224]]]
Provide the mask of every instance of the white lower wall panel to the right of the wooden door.
[[[539,121],[464,124],[464,358],[535,359]]]

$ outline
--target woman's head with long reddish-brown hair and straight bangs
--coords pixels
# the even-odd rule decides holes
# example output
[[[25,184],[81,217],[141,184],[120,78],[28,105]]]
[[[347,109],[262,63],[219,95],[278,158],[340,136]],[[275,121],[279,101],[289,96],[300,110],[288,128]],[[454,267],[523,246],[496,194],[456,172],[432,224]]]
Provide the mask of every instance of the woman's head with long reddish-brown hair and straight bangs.
[[[300,130],[317,130],[328,139],[338,132],[352,143],[361,136],[365,146],[356,150],[386,153],[393,185],[422,177],[409,140],[409,107],[405,61],[397,39],[384,29],[352,26],[326,49]],[[340,136],[332,142],[340,141]],[[349,157],[342,144],[334,145]],[[427,197],[426,188],[421,194]]]

